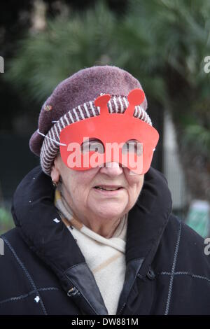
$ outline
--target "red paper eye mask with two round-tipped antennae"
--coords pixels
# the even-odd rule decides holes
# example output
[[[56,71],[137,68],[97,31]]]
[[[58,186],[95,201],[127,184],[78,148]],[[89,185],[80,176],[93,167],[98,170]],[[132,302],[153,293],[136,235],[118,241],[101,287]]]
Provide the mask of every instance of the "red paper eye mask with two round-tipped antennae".
[[[124,113],[109,113],[107,103],[111,96],[99,96],[94,101],[100,107],[99,116],[72,123],[60,132],[60,142],[65,146],[59,148],[65,165],[87,170],[118,162],[135,174],[146,174],[159,134],[154,127],[133,116],[135,106],[144,102],[144,97],[143,90],[134,89],[127,96],[129,106]]]

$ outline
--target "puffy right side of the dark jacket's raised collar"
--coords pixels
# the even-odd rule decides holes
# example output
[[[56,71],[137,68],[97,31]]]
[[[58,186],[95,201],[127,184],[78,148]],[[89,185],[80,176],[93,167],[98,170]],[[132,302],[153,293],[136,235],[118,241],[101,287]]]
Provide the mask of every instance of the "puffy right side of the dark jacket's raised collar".
[[[171,212],[172,195],[167,179],[151,167],[137,203],[129,212],[127,227],[126,262],[144,258],[141,276],[146,276],[153,262]]]

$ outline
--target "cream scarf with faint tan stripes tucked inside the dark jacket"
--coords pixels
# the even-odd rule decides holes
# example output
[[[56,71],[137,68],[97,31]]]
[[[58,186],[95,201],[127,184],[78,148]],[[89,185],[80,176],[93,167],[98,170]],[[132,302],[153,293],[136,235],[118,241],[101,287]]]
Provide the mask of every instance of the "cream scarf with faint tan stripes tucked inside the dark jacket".
[[[127,214],[120,220],[113,236],[109,239],[90,230],[73,216],[69,204],[62,195],[59,183],[55,190],[55,207],[62,221],[83,253],[97,282],[110,315],[115,315],[118,300],[125,279],[125,244],[127,233]]]

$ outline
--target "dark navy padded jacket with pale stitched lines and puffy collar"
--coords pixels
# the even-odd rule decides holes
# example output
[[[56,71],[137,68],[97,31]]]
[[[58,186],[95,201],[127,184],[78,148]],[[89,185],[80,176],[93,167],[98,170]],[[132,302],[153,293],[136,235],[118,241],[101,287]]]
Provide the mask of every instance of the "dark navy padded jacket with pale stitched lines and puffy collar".
[[[15,228],[1,236],[0,314],[107,315],[75,239],[62,221],[53,221],[59,218],[54,195],[40,166],[15,191]],[[117,314],[210,314],[204,248],[202,237],[172,214],[167,180],[151,167],[129,212]]]

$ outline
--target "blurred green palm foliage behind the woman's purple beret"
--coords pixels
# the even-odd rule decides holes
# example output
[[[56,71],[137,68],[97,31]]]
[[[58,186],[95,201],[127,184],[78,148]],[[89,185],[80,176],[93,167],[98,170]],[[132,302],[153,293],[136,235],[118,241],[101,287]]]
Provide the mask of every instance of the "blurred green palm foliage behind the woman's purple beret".
[[[47,21],[44,31],[29,32],[3,77],[23,97],[43,102],[59,81],[79,69],[120,66],[139,78],[149,104],[172,111],[183,144],[200,139],[209,157],[207,55],[209,0],[131,0],[123,17],[97,1],[91,10],[58,16]]]

